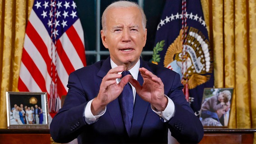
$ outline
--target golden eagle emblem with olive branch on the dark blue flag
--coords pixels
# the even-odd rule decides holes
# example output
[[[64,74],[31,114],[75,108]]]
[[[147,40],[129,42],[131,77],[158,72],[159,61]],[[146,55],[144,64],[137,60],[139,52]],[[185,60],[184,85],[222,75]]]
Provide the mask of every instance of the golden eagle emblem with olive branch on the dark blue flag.
[[[190,27],[185,47],[183,47],[182,35],[181,29],[177,38],[169,45],[165,53],[164,66],[178,72],[182,76],[183,84],[187,83],[188,88],[193,89],[197,85],[206,83],[210,78],[210,75],[205,75],[208,72],[211,73],[213,69],[210,63],[212,57],[209,51],[209,41],[198,29]],[[157,58],[152,58],[153,63],[160,62],[160,56],[157,53],[163,50],[164,42],[162,40],[154,47],[153,57],[155,54]],[[185,61],[183,50],[186,52]]]

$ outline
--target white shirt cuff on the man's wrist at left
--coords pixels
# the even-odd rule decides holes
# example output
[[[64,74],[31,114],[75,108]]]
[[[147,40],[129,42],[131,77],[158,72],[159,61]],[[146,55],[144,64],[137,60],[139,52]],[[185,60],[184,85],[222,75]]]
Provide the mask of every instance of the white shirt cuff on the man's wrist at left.
[[[96,122],[105,112],[106,112],[106,109],[107,107],[105,107],[105,110],[104,111],[101,111],[98,115],[94,116],[91,112],[91,103],[92,103],[92,100],[91,99],[87,105],[85,106],[85,109],[84,109],[84,117],[85,117],[85,121],[90,125],[94,122]]]

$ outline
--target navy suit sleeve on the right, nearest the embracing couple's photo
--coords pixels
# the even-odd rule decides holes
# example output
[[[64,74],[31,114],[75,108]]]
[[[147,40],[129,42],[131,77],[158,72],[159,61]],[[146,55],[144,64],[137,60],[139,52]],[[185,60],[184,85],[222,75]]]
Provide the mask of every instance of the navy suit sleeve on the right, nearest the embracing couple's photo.
[[[169,130],[179,143],[199,143],[204,135],[203,126],[185,99],[177,73],[170,85],[168,96],[174,102],[175,112],[174,117],[168,121]]]

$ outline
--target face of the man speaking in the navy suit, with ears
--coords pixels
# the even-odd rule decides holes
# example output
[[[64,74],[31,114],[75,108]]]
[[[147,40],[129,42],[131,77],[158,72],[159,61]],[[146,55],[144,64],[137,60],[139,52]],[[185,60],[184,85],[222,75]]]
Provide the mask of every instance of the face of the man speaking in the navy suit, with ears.
[[[133,66],[146,44],[146,28],[142,26],[140,10],[136,7],[109,9],[101,39],[114,63]]]

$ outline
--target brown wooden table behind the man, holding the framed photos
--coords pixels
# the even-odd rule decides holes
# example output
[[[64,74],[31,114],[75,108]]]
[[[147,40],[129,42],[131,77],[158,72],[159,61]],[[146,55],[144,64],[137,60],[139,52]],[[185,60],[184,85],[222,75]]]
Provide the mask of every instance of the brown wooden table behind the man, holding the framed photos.
[[[199,144],[253,144],[256,129],[205,128]],[[174,140],[174,141],[173,141]],[[173,139],[171,144],[178,144]],[[0,129],[0,144],[50,144],[48,128]]]

